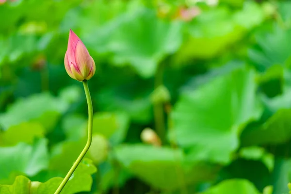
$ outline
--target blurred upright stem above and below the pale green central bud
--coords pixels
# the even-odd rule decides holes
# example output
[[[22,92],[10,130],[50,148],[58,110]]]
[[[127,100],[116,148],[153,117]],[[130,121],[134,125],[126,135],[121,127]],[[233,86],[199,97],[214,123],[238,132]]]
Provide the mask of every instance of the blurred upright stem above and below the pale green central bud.
[[[163,84],[163,64],[158,66],[155,75],[155,89]],[[161,138],[162,143],[165,142],[165,118],[162,103],[154,103],[154,117],[155,117],[155,128],[158,136]]]

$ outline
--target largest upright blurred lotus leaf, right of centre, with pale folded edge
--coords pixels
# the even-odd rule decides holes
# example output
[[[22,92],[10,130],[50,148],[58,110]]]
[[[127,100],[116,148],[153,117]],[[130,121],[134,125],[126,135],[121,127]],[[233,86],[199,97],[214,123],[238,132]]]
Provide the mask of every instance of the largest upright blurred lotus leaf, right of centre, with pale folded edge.
[[[255,76],[253,70],[236,69],[182,92],[171,115],[170,138],[190,151],[190,160],[230,161],[241,129],[262,112]]]

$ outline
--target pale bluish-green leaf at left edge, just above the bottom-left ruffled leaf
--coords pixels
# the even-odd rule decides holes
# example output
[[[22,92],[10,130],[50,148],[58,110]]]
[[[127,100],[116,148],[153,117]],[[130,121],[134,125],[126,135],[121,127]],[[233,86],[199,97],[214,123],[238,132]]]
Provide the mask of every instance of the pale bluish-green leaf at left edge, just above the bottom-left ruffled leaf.
[[[49,164],[46,139],[39,139],[32,146],[18,143],[12,147],[0,147],[0,156],[0,179],[8,178],[12,172],[34,176],[47,169]]]

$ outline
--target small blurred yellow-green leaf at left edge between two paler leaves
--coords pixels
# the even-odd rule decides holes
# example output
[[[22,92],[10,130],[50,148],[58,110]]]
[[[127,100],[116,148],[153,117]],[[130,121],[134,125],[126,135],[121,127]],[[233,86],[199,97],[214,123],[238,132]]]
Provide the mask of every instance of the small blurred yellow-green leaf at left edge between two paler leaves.
[[[37,122],[25,122],[0,132],[0,146],[15,146],[19,142],[32,144],[34,138],[44,137],[45,129]]]

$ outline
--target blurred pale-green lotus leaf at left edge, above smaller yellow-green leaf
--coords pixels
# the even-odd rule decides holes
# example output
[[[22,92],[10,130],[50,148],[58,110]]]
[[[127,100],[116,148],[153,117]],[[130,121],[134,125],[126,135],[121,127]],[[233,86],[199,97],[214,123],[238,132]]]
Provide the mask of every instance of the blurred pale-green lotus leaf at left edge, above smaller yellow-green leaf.
[[[18,99],[5,113],[1,113],[0,125],[8,129],[21,122],[36,120],[49,128],[54,126],[51,123],[56,124],[60,114],[67,110],[68,105],[66,101],[49,93],[35,94]]]

